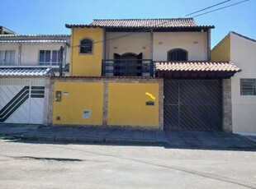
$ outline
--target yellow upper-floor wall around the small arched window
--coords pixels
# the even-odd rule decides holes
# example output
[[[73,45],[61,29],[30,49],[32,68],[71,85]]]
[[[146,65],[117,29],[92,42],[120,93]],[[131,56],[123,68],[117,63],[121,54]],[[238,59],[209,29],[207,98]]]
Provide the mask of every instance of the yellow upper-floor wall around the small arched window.
[[[92,54],[80,54],[80,40],[92,39]],[[73,28],[71,38],[71,76],[101,76],[102,75],[102,28]]]

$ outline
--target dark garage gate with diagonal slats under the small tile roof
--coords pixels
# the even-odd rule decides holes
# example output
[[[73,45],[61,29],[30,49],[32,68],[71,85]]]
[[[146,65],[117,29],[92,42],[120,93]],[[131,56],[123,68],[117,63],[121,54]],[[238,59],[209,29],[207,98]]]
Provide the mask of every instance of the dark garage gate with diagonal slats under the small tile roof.
[[[221,81],[165,80],[164,129],[221,131]]]

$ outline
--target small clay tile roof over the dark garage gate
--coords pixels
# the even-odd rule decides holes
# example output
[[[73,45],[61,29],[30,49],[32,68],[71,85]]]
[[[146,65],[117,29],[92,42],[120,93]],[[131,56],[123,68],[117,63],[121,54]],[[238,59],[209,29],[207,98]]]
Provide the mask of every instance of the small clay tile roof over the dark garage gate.
[[[234,71],[241,69],[232,62],[156,62],[156,71]]]

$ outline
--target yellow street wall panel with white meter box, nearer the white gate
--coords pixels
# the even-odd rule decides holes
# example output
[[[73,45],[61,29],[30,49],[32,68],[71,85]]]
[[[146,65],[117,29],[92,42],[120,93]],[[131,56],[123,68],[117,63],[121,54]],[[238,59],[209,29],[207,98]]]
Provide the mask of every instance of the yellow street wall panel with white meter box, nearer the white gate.
[[[57,90],[61,101],[54,100],[53,124],[102,125],[103,83],[55,82]],[[83,118],[83,110],[90,110],[89,118]]]

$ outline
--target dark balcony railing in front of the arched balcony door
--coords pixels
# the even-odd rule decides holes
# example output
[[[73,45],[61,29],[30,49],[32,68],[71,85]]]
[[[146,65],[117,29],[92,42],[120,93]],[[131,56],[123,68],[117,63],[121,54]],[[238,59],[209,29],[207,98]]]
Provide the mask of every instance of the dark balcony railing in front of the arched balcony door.
[[[102,76],[154,76],[151,59],[102,60]]]

